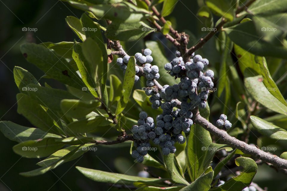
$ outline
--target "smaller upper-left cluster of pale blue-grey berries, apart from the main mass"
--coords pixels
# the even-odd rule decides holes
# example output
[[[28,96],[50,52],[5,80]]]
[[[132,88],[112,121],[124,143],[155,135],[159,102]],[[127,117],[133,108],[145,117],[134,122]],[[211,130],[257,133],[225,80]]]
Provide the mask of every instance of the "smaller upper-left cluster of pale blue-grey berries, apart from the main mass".
[[[152,87],[154,85],[153,79],[158,79],[160,77],[158,73],[158,67],[152,66],[150,63],[153,61],[151,56],[152,51],[149,48],[144,49],[142,53],[135,54],[136,66],[135,66],[135,73],[138,74],[140,71],[139,66],[144,67],[144,73],[146,74],[146,85],[148,87]],[[126,72],[126,64],[129,62],[130,56],[126,55],[123,58],[117,58],[117,65],[120,66],[120,69],[123,70],[123,73]],[[135,81],[139,80],[139,76],[135,75]]]

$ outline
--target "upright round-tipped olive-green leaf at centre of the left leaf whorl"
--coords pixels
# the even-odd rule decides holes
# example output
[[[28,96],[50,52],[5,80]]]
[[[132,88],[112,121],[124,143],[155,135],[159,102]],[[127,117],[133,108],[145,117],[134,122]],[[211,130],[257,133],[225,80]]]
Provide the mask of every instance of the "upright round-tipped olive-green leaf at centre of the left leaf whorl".
[[[102,55],[102,51],[98,45],[98,43],[96,43],[96,41],[94,41],[92,38],[87,38],[84,42],[83,42],[83,46],[82,46],[82,50],[83,50],[83,55],[85,56],[86,60],[89,63],[90,66],[90,71],[89,71],[89,75],[91,76],[91,78],[94,79],[95,84],[97,85],[96,87],[101,87],[101,81],[103,78],[103,55]],[[99,89],[99,92],[102,92],[104,90]]]

